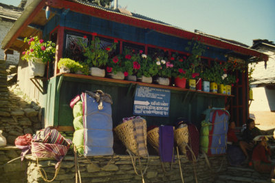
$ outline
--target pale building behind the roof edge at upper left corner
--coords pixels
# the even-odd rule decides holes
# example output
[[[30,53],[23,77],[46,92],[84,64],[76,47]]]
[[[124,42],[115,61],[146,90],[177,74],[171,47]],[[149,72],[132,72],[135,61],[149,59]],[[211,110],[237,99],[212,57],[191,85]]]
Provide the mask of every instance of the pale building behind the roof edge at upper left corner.
[[[11,5],[0,3],[0,44],[12,27],[14,21],[16,21],[22,14],[24,8],[19,8]],[[0,49],[0,60],[4,59],[4,50]],[[9,65],[17,65],[19,62],[19,52],[8,54],[6,63]]]

